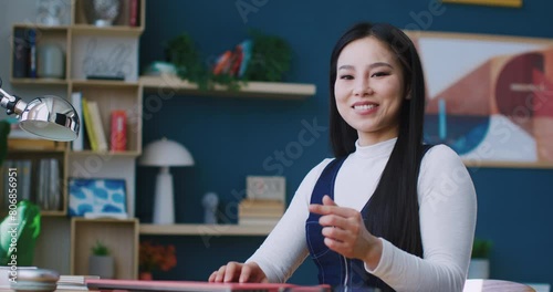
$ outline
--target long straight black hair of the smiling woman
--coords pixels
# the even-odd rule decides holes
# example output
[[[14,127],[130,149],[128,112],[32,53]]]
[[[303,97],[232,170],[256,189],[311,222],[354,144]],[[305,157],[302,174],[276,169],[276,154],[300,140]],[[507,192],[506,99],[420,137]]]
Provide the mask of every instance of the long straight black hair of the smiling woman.
[[[367,36],[387,44],[404,75],[404,94],[399,114],[397,142],[382,174],[375,195],[371,198],[365,220],[367,229],[396,247],[422,257],[418,212],[417,180],[422,150],[425,111],[425,79],[422,65],[411,40],[387,23],[357,23],[337,41],[331,56],[330,72],[330,135],[334,155],[343,157],[355,152],[357,131],[340,115],[334,95],[337,59],[347,44]],[[404,96],[405,97],[405,96]]]

